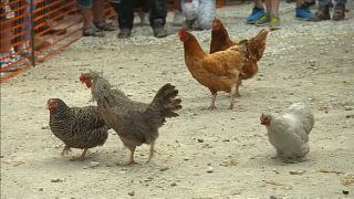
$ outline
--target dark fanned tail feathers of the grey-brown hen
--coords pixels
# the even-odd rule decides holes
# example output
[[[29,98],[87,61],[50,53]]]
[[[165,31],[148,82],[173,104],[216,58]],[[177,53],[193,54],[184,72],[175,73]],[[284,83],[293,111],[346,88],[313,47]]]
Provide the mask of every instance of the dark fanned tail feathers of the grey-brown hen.
[[[163,117],[176,117],[176,111],[181,108],[181,100],[176,98],[178,90],[170,84],[165,84],[155,95],[152,105],[158,109]]]

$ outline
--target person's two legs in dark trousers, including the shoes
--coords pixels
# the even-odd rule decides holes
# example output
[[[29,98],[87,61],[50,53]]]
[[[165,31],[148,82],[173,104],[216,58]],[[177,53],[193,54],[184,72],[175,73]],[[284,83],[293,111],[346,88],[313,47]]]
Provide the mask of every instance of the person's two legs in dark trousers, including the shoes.
[[[112,0],[111,4],[118,13],[119,24],[119,39],[126,39],[132,35],[133,22],[134,22],[134,8],[138,3],[138,0]],[[150,13],[149,22],[153,28],[154,35],[156,38],[167,36],[167,30],[165,28],[167,15],[167,1],[166,0],[148,0]]]

